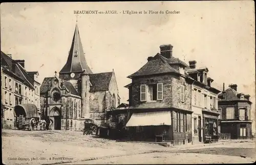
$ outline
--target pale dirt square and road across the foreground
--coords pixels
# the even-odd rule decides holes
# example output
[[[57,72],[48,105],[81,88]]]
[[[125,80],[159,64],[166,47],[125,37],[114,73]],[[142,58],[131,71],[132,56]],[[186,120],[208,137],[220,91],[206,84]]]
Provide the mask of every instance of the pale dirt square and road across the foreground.
[[[155,144],[117,143],[75,131],[2,131],[5,164],[181,163],[180,160],[182,163],[246,163],[253,161],[248,158],[253,153],[250,149],[255,149],[252,142],[166,148]],[[238,157],[240,152],[246,153],[246,158]]]

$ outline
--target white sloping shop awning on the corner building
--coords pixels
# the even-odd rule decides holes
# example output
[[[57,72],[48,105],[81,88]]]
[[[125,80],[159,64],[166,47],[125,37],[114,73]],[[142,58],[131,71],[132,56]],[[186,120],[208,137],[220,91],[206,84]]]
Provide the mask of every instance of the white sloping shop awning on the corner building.
[[[172,125],[170,111],[133,113],[126,127]]]

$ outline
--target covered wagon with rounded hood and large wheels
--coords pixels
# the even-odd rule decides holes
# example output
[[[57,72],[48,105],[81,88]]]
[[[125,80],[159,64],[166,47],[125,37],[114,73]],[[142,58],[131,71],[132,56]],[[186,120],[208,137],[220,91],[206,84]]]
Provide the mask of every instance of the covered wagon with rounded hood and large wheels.
[[[34,130],[40,120],[39,111],[34,104],[20,104],[14,107],[16,127],[19,130]]]

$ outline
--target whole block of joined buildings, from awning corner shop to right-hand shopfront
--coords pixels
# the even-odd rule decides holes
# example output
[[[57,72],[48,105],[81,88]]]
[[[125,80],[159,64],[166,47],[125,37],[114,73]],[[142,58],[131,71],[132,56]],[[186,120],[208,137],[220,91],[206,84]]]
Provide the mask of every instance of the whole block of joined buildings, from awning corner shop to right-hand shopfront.
[[[132,140],[164,138],[165,142],[186,144],[203,141],[202,137],[213,132],[209,133],[209,126],[204,125],[218,118],[220,91],[210,85],[212,79],[207,78],[207,68],[196,68],[193,61],[188,66],[172,52],[172,45],[160,45],[160,54],[148,57],[144,66],[128,76],[132,83],[125,86],[129,89],[125,120]],[[195,91],[201,91],[197,99],[193,99]],[[192,101],[200,101],[200,105],[192,106]],[[198,122],[200,131],[204,127],[200,135],[196,132]]]

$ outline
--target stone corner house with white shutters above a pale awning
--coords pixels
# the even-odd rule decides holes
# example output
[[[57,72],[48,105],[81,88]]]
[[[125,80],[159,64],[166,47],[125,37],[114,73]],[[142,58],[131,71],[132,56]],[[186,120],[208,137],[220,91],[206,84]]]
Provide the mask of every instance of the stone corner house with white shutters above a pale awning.
[[[127,131],[133,140],[174,144],[191,143],[191,79],[185,62],[173,57],[173,46],[160,46],[160,54],[128,76],[129,114]]]

